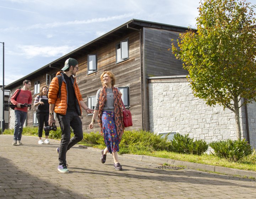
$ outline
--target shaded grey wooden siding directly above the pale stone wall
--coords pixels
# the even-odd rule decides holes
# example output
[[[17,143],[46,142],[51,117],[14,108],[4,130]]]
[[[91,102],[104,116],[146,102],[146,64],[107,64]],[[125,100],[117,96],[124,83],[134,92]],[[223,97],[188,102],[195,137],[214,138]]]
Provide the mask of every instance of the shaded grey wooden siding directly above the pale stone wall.
[[[146,77],[187,75],[182,62],[172,54],[171,39],[174,42],[180,32],[155,28],[144,28],[144,65]]]

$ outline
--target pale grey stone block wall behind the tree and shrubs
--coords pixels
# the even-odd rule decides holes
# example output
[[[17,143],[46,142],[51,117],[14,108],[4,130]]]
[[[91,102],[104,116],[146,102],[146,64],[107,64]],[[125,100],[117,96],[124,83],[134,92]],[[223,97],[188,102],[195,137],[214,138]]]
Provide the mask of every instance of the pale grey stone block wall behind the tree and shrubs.
[[[249,111],[250,110],[250,111]],[[176,131],[207,142],[236,139],[235,114],[222,106],[207,106],[193,96],[184,76],[149,78],[150,130]],[[256,144],[256,103],[248,104],[250,141]],[[245,107],[240,109],[242,138],[247,138]]]

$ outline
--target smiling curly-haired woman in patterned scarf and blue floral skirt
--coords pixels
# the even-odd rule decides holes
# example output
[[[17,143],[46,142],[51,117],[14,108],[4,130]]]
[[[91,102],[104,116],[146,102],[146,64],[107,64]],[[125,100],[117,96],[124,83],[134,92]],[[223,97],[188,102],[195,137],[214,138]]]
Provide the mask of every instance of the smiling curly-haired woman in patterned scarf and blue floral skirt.
[[[107,153],[114,158],[114,169],[122,171],[118,161],[119,143],[121,141],[123,125],[123,107],[121,103],[122,93],[114,84],[116,79],[112,72],[105,71],[101,74],[102,88],[97,91],[96,104],[92,122],[89,128],[92,129],[98,115],[98,123],[101,127],[101,135],[104,136],[106,148],[101,151],[101,162],[105,163]]]

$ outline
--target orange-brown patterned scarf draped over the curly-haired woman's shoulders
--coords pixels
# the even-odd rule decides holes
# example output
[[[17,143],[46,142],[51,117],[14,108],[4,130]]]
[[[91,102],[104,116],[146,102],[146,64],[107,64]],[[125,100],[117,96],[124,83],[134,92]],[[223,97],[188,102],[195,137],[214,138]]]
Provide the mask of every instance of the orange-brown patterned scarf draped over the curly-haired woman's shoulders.
[[[116,123],[116,130],[117,130],[117,136],[119,139],[122,138],[123,132],[124,132],[124,125],[123,125],[123,106],[121,103],[121,96],[118,93],[118,89],[114,86],[112,86],[112,90],[114,93],[114,119]],[[103,135],[103,128],[102,128],[102,110],[105,106],[107,99],[107,92],[106,92],[106,86],[104,86],[100,91],[100,98],[99,98],[99,110],[98,110],[98,120],[97,122],[100,124],[101,127],[101,135]]]

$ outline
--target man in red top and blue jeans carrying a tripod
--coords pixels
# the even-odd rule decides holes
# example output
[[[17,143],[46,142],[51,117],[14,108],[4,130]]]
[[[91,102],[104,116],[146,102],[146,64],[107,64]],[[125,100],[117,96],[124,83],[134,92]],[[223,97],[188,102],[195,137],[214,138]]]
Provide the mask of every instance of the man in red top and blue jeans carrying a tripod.
[[[14,109],[15,114],[15,127],[14,127],[14,140],[12,145],[21,145],[21,135],[23,130],[23,125],[27,117],[27,107],[21,107],[21,104],[31,104],[32,95],[29,91],[31,87],[30,80],[23,81],[23,88],[17,89],[11,97],[11,103],[16,105]],[[18,91],[20,90],[20,93]],[[17,97],[16,97],[17,96]],[[16,98],[16,101],[15,101]]]

